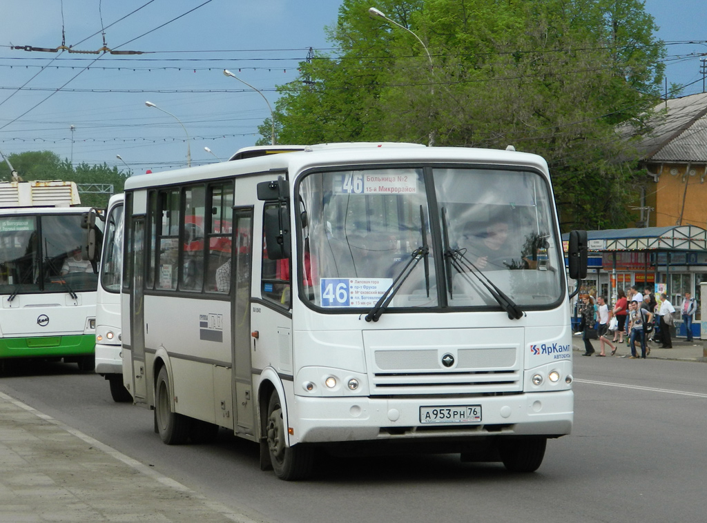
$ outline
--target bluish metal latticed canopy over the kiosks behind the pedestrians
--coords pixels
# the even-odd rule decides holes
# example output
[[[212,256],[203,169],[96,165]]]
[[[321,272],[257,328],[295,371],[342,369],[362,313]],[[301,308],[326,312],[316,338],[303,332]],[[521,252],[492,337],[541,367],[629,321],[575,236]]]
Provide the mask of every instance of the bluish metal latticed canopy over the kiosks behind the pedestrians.
[[[568,240],[569,235],[563,235]],[[635,229],[588,230],[588,247],[593,252],[613,251],[704,251],[707,230],[695,225]]]

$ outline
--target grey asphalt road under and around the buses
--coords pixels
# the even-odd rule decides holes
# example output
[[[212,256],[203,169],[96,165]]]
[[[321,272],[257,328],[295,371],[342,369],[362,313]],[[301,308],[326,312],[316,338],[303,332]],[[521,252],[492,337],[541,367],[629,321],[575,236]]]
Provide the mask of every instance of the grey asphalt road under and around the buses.
[[[76,365],[18,368],[0,390],[271,523],[664,523],[705,520],[706,377],[704,363],[575,358],[573,433],[549,442],[534,474],[458,456],[327,458],[303,483],[260,471],[256,445],[225,430],[211,445],[163,445],[150,411],[115,404]]]

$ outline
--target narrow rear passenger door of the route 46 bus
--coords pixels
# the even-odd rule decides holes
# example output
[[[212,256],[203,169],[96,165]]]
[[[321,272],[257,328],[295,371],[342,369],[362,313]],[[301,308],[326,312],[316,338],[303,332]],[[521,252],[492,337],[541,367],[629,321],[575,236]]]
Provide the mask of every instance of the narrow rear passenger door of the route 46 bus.
[[[133,248],[133,282],[132,307],[130,315],[130,332],[132,334],[132,377],[133,397],[136,404],[145,403],[147,397],[147,376],[145,365],[145,293],[144,293],[144,249],[145,249],[145,218],[133,218],[132,227]]]

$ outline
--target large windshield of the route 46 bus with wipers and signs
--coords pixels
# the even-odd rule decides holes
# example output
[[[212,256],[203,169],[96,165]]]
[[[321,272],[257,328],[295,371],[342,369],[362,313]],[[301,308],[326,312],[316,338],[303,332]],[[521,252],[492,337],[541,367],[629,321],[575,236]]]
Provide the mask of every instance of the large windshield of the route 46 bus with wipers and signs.
[[[310,172],[299,200],[302,295],[315,307],[370,308],[391,286],[389,308],[498,308],[498,291],[524,310],[561,300],[549,183],[532,170]]]

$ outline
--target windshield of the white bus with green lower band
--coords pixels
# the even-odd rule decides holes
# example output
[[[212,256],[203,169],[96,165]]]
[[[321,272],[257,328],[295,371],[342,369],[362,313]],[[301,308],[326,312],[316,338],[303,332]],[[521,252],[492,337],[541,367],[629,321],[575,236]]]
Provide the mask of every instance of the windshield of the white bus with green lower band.
[[[0,216],[0,293],[95,291],[98,275],[83,259],[81,214]]]

